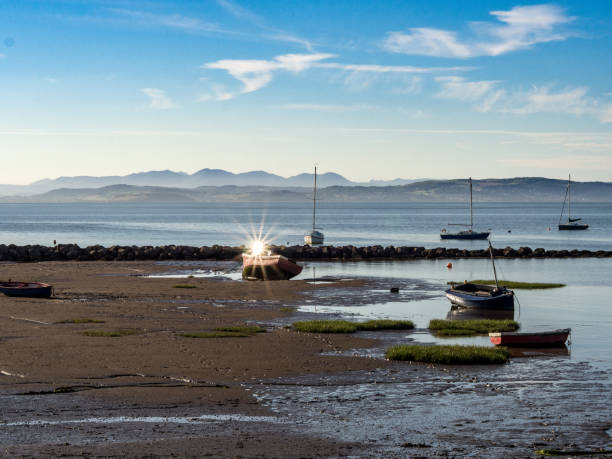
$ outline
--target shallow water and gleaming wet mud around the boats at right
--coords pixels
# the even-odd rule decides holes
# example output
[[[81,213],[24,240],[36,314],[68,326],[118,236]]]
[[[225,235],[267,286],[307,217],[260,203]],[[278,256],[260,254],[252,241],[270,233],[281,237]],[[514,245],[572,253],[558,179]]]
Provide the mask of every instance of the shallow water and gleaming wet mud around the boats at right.
[[[429,320],[488,318],[452,309],[449,281],[491,279],[487,259],[306,263],[304,300],[283,325],[302,318],[412,320],[414,331],[359,332],[375,338],[349,354],[382,359],[397,343],[490,346],[488,337],[438,338]],[[179,267],[174,267],[179,268]],[[186,268],[186,267],[185,267]],[[203,268],[203,269],[202,269]],[[200,268],[229,279],[230,267]],[[183,269],[180,267],[179,269]],[[224,276],[223,270],[228,275]],[[305,375],[247,386],[300,431],[367,444],[384,455],[533,455],[541,448],[598,449],[612,444],[612,263],[606,259],[497,260],[501,279],[565,283],[516,290],[523,331],[571,328],[571,344],[515,353],[495,366],[394,363],[374,372]],[[188,271],[180,274],[185,276]],[[198,275],[199,273],[192,273]],[[343,279],[362,279],[346,288]],[[397,294],[390,287],[399,287]]]

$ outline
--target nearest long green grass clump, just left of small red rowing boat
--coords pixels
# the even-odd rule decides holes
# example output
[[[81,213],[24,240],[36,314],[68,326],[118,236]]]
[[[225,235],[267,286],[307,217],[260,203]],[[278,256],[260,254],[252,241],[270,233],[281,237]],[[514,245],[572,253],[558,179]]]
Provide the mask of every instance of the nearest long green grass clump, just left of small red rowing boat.
[[[418,344],[393,346],[387,349],[385,355],[389,360],[410,360],[448,365],[506,363],[510,358],[510,352],[504,347],[424,346]]]

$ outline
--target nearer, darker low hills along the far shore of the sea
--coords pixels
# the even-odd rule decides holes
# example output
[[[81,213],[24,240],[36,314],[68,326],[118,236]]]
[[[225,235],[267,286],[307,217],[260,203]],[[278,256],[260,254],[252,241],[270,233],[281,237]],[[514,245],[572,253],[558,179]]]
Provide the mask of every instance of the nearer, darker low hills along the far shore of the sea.
[[[474,180],[476,202],[558,202],[567,182],[539,177]],[[572,183],[572,200],[612,202],[612,183]],[[327,186],[322,202],[466,202],[467,180],[425,180],[395,186]],[[308,187],[200,186],[197,188],[111,185],[100,188],[61,188],[34,196],[2,197],[0,202],[305,202]]]

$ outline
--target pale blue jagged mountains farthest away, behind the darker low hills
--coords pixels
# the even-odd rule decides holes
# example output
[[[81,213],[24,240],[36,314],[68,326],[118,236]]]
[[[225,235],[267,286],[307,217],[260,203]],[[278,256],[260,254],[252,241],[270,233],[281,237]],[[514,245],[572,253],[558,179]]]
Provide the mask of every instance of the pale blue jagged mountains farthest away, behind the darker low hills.
[[[0,185],[0,196],[11,195],[35,195],[60,188],[101,188],[111,185],[134,185],[153,187],[174,188],[197,188],[200,186],[271,186],[271,187],[311,187],[314,174],[298,174],[292,177],[281,177],[265,171],[251,171],[234,174],[222,169],[202,169],[193,174],[174,171],[149,171],[138,172],[129,175],[111,175],[105,177],[59,177],[56,179],[44,179],[31,183],[30,185]],[[395,179],[395,180],[370,180],[360,183],[352,182],[340,174],[327,172],[317,175],[317,183],[320,187],[328,186],[389,186],[405,185],[417,180]]]

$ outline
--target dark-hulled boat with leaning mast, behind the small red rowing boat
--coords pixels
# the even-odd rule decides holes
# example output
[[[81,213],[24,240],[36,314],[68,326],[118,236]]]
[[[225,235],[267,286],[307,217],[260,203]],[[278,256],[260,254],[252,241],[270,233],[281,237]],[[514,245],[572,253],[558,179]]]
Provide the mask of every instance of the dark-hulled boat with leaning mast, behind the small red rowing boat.
[[[446,290],[446,297],[451,303],[464,308],[487,308],[487,309],[513,309],[514,292],[506,287],[500,287],[495,269],[495,258],[493,257],[493,246],[489,241],[489,253],[493,265],[495,285],[474,284],[465,282],[453,284]]]

